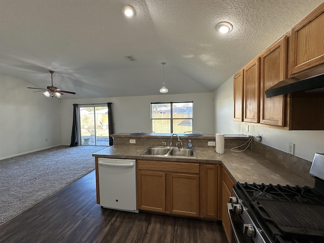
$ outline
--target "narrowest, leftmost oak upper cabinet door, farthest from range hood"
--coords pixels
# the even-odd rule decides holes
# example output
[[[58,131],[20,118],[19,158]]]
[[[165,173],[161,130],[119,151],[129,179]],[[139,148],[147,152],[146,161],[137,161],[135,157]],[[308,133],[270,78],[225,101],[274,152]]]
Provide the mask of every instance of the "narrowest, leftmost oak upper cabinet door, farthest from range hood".
[[[234,119],[243,121],[243,69],[234,75]]]

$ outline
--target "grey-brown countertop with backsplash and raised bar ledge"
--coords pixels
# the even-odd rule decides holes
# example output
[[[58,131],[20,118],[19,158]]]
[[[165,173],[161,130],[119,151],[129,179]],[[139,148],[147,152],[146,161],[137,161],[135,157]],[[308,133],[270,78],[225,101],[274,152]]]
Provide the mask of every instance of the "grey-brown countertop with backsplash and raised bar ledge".
[[[172,134],[148,134],[148,135],[130,135],[128,133],[113,134],[114,145],[104,148],[93,154],[94,157],[106,158],[129,158],[141,160],[159,160],[159,161],[181,161],[191,163],[210,163],[220,164],[234,182],[249,182],[249,183],[272,183],[272,184],[293,184],[293,185],[308,185],[313,186],[313,180],[309,176],[304,178],[284,167],[281,167],[256,151],[248,148],[244,152],[234,152],[230,149],[244,144],[249,137],[246,135],[228,134],[225,135],[225,153],[217,154],[215,146],[208,146],[208,141],[215,141],[215,135],[208,134],[201,137],[181,136],[180,139],[184,144],[187,139],[192,141],[193,147],[196,149],[196,158],[175,158],[175,157],[156,157],[140,155],[148,146],[161,146],[162,142],[170,143]],[[136,144],[130,144],[129,139],[136,139]],[[252,147],[260,144],[253,141]],[[184,145],[185,147],[186,145]],[[245,148],[245,146],[243,146]],[[282,152],[282,151],[279,151]],[[282,152],[284,153],[284,152]],[[286,153],[284,153],[286,154]],[[288,155],[288,154],[286,154]],[[289,155],[296,157],[294,155]],[[305,160],[307,161],[307,160]],[[308,161],[310,168],[310,161]],[[308,174],[308,171],[304,171]]]

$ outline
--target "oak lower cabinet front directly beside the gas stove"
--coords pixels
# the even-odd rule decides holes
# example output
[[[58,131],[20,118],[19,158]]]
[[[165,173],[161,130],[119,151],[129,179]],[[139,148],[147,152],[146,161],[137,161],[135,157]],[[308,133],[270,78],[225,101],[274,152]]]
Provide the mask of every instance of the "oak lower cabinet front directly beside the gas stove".
[[[230,219],[227,213],[227,203],[229,200],[229,196],[232,193],[232,187],[234,185],[234,182],[229,177],[227,172],[223,168],[222,173],[222,225],[224,228],[225,236],[227,238],[227,241],[230,242],[230,234],[231,234],[231,223]]]

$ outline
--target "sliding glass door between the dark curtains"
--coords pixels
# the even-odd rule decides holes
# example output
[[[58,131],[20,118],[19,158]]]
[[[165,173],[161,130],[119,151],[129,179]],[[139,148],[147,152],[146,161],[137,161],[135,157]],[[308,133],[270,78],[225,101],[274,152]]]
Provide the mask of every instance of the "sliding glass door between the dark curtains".
[[[108,107],[79,106],[81,145],[109,145]]]

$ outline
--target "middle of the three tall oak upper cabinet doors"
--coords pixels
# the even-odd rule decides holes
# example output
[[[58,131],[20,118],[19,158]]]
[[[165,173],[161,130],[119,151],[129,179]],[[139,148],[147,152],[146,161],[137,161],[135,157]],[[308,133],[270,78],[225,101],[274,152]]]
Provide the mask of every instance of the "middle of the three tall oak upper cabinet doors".
[[[260,113],[260,57],[244,68],[244,121],[259,123]]]

